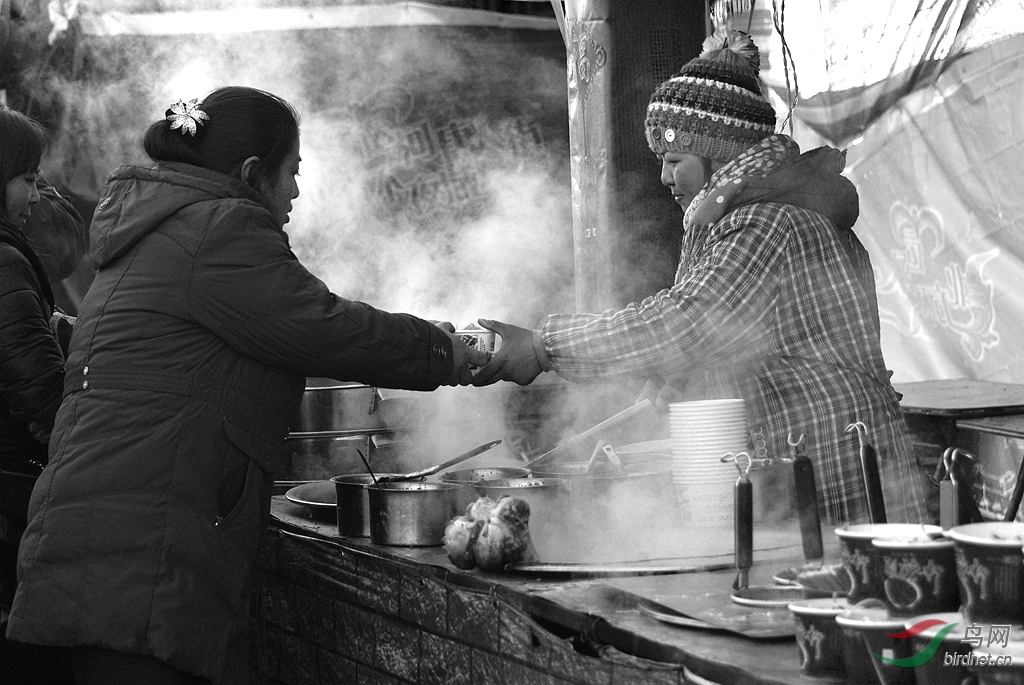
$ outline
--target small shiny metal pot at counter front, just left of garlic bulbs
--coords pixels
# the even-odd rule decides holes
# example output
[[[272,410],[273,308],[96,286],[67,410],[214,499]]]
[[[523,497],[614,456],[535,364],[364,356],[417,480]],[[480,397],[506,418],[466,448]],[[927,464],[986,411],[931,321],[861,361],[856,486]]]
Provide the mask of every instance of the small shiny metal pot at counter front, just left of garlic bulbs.
[[[370,541],[376,545],[438,547],[456,515],[456,483],[400,480],[367,485]]]

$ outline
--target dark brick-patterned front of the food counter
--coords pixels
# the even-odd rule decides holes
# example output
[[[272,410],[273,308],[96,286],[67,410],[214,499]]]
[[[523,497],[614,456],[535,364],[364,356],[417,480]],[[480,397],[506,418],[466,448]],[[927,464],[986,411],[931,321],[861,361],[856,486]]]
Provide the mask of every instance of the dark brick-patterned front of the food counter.
[[[261,685],[686,682],[681,666],[556,635],[509,592],[280,528],[261,551],[253,600]]]

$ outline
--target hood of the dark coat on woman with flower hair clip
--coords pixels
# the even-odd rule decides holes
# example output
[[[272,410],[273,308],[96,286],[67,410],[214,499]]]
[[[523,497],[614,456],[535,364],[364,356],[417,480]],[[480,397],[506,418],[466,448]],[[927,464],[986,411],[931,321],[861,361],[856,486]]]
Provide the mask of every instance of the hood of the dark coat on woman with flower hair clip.
[[[224,199],[269,209],[255,188],[210,169],[176,163],[118,167],[106,177],[89,228],[92,265],[111,263],[181,209]]]

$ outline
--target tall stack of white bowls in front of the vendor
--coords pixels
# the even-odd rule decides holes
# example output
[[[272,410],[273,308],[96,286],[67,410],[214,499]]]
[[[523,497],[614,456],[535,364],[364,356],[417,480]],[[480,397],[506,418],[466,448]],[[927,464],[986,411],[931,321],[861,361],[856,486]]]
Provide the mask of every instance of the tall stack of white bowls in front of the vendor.
[[[733,490],[739,472],[723,462],[746,452],[742,399],[707,399],[669,405],[672,480],[687,538],[698,554],[732,551]],[[743,459],[740,458],[742,463]]]

